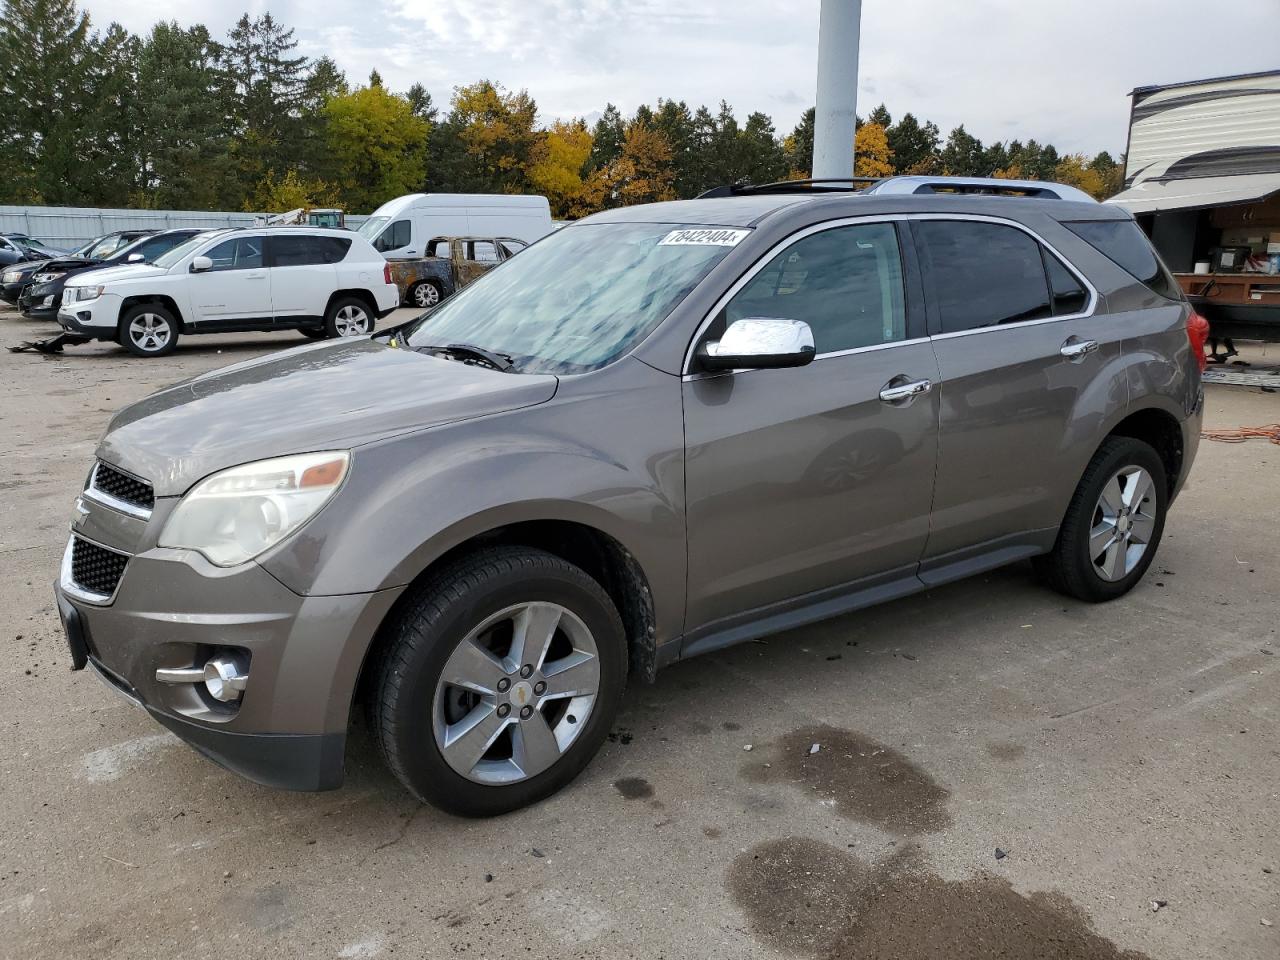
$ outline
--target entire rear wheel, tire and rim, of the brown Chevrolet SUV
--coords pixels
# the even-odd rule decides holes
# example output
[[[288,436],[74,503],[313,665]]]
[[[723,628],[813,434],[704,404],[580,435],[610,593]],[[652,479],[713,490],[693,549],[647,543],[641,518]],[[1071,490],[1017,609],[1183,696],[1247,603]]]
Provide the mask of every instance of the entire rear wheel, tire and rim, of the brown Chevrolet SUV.
[[[1123,596],[1156,557],[1167,506],[1160,454],[1132,436],[1111,436],[1085,467],[1057,541],[1036,558],[1036,570],[1068,596],[1091,603]]]

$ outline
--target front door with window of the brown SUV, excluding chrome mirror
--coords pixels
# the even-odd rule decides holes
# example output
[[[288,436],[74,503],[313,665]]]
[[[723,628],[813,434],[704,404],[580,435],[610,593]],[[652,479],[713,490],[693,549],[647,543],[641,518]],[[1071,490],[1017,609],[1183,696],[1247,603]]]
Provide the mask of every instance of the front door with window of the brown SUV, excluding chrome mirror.
[[[717,316],[707,339],[750,316],[803,320],[818,356],[685,378],[686,631],[914,573],[938,371],[918,300],[908,302],[895,224],[859,223],[795,241]],[[895,390],[911,384],[913,396]]]

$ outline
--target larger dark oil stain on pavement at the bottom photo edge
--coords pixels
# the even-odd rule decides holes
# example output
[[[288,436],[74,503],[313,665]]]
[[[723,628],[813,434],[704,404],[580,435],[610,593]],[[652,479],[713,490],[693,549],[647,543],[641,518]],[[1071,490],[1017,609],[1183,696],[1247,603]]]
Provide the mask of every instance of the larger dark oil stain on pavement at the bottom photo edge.
[[[914,849],[867,864],[817,840],[771,840],[733,860],[728,888],[756,940],[819,960],[1148,960],[1062,896],[1023,896],[989,876],[945,881]]]

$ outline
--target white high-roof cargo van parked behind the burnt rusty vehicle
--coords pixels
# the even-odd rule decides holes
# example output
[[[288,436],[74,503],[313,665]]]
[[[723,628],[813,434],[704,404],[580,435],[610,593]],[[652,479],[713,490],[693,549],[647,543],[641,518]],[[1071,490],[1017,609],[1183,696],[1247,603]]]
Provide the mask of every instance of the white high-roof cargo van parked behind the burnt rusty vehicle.
[[[515,237],[552,232],[547,197],[506,193],[408,193],[378,207],[360,234],[388,260],[426,256],[435,237]]]

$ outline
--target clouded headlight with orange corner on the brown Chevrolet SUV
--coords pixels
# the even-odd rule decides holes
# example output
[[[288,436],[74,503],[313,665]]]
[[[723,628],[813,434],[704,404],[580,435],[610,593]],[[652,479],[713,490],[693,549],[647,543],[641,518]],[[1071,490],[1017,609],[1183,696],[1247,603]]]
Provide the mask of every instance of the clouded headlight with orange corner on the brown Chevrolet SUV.
[[[342,451],[303,453],[205,477],[164,525],[160,545],[200,550],[219,567],[253,559],[329,502],[349,462],[351,454]]]

